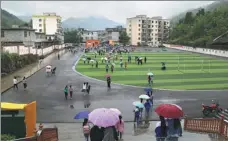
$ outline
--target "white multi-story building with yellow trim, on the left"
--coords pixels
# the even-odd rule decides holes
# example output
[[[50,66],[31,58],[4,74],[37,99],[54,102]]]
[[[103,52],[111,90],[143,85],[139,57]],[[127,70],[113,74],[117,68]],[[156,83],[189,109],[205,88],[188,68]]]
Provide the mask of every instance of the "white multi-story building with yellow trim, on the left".
[[[32,27],[35,32],[44,33],[48,40],[64,41],[61,17],[56,13],[43,13],[32,16]]]

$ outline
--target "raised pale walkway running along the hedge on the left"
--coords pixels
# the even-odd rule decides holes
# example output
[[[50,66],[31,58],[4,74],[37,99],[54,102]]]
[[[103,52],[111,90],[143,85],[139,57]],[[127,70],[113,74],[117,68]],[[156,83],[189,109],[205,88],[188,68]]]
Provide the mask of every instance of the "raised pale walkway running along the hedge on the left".
[[[22,80],[24,76],[29,77],[33,75],[35,72],[40,70],[41,68],[47,66],[52,60],[57,58],[57,55],[60,54],[63,55],[65,53],[65,50],[60,50],[53,52],[52,54],[45,57],[42,61],[42,63],[36,62],[31,65],[27,65],[23,67],[22,69],[19,69],[7,76],[4,76],[1,78],[1,92],[4,92],[5,90],[9,89],[13,85],[13,78],[14,76],[17,76],[18,81]]]

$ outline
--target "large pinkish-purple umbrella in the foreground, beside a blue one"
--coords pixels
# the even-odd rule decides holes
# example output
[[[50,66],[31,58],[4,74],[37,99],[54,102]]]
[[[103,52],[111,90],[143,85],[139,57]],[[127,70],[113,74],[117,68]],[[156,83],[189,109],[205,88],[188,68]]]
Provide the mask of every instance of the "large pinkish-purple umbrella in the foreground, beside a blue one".
[[[89,114],[89,121],[97,126],[109,127],[116,125],[119,115],[110,109],[99,108]]]

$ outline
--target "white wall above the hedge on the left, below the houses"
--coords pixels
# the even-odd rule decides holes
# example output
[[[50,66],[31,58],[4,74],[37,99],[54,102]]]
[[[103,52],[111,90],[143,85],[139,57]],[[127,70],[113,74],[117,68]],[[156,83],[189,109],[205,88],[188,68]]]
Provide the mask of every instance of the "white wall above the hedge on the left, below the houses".
[[[53,52],[54,49],[63,49],[65,48],[66,45],[52,45],[47,48],[43,49],[37,49],[34,47],[25,47],[25,46],[4,46],[2,47],[4,52],[9,52],[9,53],[17,53],[19,55],[25,55],[25,54],[37,54],[38,56],[47,55],[51,52]]]

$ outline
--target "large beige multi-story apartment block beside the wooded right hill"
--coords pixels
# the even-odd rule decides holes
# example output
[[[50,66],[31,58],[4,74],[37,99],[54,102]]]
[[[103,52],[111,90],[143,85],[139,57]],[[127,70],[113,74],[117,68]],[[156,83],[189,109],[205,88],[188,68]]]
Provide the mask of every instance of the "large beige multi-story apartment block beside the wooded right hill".
[[[158,46],[168,38],[170,22],[162,17],[137,15],[127,18],[126,30],[132,45]]]

